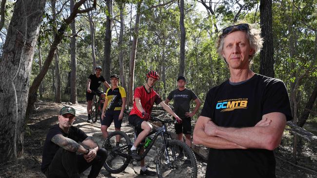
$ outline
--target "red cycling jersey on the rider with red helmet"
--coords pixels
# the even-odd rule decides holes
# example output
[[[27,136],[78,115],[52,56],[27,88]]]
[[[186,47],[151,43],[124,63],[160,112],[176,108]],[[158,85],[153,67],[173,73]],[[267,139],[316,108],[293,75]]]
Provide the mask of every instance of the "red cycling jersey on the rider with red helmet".
[[[139,111],[135,98],[140,99],[143,109],[148,114],[151,114],[154,103],[158,105],[160,102],[162,102],[161,97],[156,91],[154,91],[154,89],[151,89],[151,91],[148,93],[144,86],[136,88],[134,91],[133,108],[130,112],[130,115],[137,114],[142,119],[142,112]]]

